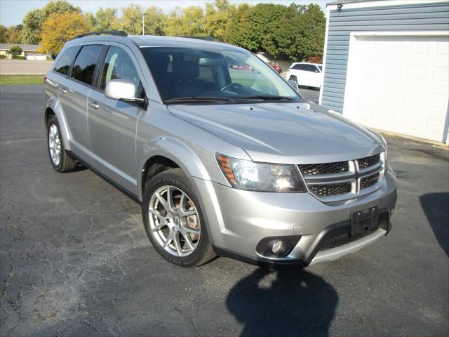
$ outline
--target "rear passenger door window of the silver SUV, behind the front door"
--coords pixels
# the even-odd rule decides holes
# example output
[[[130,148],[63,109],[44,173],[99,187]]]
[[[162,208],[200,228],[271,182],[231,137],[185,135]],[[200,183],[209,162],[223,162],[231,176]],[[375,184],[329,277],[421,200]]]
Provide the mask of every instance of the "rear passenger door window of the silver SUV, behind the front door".
[[[100,45],[83,46],[76,56],[71,77],[91,86],[102,48]]]

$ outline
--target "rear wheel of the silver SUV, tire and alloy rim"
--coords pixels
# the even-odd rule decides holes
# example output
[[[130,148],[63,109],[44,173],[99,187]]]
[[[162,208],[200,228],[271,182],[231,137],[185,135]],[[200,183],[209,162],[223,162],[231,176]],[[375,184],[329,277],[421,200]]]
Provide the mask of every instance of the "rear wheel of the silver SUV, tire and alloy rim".
[[[53,169],[58,172],[68,172],[76,168],[78,162],[70,158],[67,152],[65,152],[58,119],[54,115],[48,119],[47,145],[48,156],[50,157]]]

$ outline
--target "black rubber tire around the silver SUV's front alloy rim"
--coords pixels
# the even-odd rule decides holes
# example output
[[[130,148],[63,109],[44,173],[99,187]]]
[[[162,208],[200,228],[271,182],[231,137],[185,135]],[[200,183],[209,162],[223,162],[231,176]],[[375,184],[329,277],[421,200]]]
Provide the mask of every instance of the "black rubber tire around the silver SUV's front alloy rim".
[[[161,244],[152,234],[149,223],[149,203],[154,192],[163,186],[173,186],[179,190],[182,190],[182,192],[185,192],[189,199],[191,199],[196,208],[197,215],[199,217],[199,226],[201,227],[201,235],[199,236],[199,242],[196,249],[194,249],[189,256],[175,256],[168,253],[165,249],[163,249]],[[142,199],[142,218],[149,241],[152,243],[154,249],[159,253],[159,255],[168,260],[170,263],[180,265],[181,267],[196,267],[203,265],[204,263],[208,263],[210,260],[215,258],[215,253],[210,244],[206,222],[203,217],[203,212],[201,211],[199,198],[196,195],[196,192],[194,192],[189,178],[185,176],[181,169],[170,169],[168,171],[163,171],[147,182]]]

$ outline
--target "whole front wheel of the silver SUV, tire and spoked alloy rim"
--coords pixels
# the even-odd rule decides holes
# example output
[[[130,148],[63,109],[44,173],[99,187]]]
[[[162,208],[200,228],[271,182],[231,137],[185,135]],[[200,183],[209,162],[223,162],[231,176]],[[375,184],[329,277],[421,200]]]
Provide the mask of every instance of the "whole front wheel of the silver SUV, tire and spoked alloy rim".
[[[149,181],[142,199],[145,231],[166,260],[194,267],[215,257],[199,199],[181,169],[170,169]]]

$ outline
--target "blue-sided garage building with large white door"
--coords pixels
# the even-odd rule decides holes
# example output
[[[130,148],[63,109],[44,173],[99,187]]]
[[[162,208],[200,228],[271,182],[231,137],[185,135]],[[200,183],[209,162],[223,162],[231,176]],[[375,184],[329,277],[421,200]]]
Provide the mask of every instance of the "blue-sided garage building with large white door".
[[[448,0],[337,0],[327,12],[320,104],[448,144]]]

